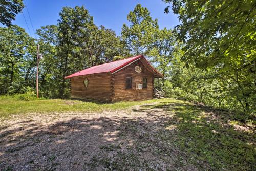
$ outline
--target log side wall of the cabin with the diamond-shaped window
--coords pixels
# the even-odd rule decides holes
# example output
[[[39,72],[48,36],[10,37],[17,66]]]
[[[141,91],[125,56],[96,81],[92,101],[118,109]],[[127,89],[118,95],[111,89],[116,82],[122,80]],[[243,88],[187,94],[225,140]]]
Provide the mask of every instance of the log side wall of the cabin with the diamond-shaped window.
[[[112,75],[110,73],[98,73],[72,77],[71,97],[111,101],[111,77]],[[87,88],[83,84],[85,78],[89,81]]]

